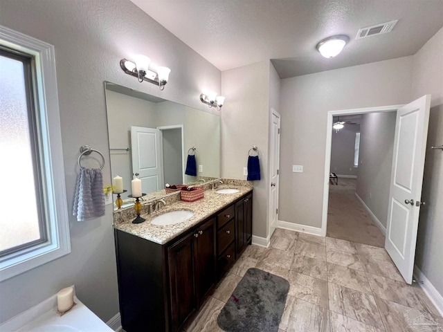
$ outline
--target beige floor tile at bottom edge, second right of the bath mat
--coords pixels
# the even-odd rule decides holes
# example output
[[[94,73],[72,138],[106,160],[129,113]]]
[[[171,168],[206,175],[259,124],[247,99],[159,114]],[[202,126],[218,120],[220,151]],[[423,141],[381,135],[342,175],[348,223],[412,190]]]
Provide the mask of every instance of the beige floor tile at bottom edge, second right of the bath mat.
[[[383,330],[381,317],[372,294],[328,284],[329,310]]]

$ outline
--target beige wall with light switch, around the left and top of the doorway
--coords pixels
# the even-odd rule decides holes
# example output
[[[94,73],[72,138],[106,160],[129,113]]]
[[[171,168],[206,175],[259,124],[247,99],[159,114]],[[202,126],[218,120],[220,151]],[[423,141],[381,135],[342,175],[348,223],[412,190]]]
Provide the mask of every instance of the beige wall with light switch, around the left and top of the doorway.
[[[327,111],[409,102],[412,61],[401,57],[282,80],[280,220],[321,227]],[[291,165],[303,165],[304,172],[292,173]]]

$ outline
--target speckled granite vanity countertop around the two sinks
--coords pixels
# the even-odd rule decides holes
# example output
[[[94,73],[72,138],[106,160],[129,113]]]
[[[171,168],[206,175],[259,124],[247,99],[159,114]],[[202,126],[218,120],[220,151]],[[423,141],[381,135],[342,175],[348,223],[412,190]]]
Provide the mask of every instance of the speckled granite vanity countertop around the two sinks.
[[[244,181],[246,182],[246,181]],[[147,239],[159,244],[165,244],[168,241],[174,239],[179,234],[186,232],[197,223],[203,221],[208,216],[215,214],[218,210],[228,206],[233,203],[239,197],[251,192],[253,187],[251,185],[233,185],[233,184],[223,184],[217,187],[217,190],[223,188],[235,188],[239,192],[235,194],[217,194],[216,190],[205,190],[205,196],[203,199],[198,201],[188,203],[183,201],[175,201],[174,203],[168,204],[161,208],[158,212],[153,214],[141,214],[143,218],[146,219],[143,223],[132,223],[133,218],[118,221],[114,219],[114,228],[117,230],[122,230],[129,234],[134,234],[137,237]],[[152,218],[159,216],[165,212],[177,211],[177,210],[190,210],[194,212],[194,215],[181,223],[176,223],[174,225],[152,225]]]

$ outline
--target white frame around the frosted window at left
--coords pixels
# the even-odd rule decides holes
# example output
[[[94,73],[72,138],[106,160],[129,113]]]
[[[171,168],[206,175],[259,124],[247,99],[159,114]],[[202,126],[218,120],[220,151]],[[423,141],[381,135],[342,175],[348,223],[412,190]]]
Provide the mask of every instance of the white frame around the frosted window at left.
[[[35,59],[35,109],[42,151],[42,185],[48,241],[0,259],[0,282],[71,252],[66,204],[62,131],[58,106],[54,46],[0,26],[0,44]],[[26,202],[25,202],[26,204]],[[22,213],[17,211],[17,213]],[[26,212],[25,212],[26,213]]]

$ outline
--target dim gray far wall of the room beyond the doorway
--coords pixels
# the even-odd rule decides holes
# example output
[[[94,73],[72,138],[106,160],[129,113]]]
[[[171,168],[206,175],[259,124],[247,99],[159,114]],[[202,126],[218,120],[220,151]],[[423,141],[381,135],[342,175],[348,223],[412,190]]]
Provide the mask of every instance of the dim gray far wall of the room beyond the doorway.
[[[356,176],[354,167],[355,134],[360,131],[359,124],[345,124],[343,129],[332,130],[331,172],[337,175]]]

